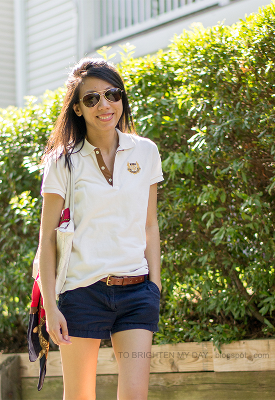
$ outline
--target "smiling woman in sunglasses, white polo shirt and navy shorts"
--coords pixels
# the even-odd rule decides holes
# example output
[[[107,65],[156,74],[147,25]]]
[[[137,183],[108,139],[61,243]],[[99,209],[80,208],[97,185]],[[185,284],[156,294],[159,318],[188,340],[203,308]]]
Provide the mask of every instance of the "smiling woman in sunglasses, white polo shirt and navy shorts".
[[[111,337],[118,399],[144,400],[161,289],[156,218],[160,158],[152,141],[128,133],[133,132],[128,100],[111,63],[84,58],[66,84],[44,155],[39,254],[47,331],[60,345],[63,398],[95,398],[100,339]],[[56,306],[54,228],[68,168],[75,179],[75,232]],[[136,357],[138,352],[147,356]]]

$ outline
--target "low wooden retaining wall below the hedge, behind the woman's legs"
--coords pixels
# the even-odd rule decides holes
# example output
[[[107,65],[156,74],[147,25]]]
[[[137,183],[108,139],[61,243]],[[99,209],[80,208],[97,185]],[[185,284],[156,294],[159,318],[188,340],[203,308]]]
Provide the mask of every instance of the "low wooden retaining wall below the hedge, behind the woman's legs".
[[[190,382],[187,384],[188,379],[193,379],[194,383],[199,386],[199,390],[205,392],[205,397],[203,397],[205,399],[212,400],[213,395],[215,398],[222,398],[223,400],[233,398],[234,400],[243,398],[249,398],[250,400],[265,398],[266,400],[271,400],[274,398],[272,371],[275,370],[275,339],[235,341],[230,344],[221,345],[221,352],[214,348],[212,342],[209,341],[153,345],[150,353],[122,353],[121,356],[150,357],[150,385],[153,387],[153,392],[159,386],[158,389],[160,392],[157,394],[159,400],[160,398],[166,398],[167,393],[165,390],[163,391],[164,386],[171,387],[169,390],[174,389],[174,399],[180,398],[183,400],[184,397],[184,400],[189,400],[191,394],[193,396],[192,390],[197,391],[197,387],[196,389],[194,389],[195,386],[189,387],[188,384]],[[39,361],[29,362],[27,353],[0,354],[0,400],[15,400],[19,398],[27,398],[28,400],[33,398],[37,400],[38,397],[41,400],[61,398],[62,370],[59,351],[50,351],[48,355],[46,374],[46,381],[48,383],[45,387],[48,390],[50,389],[50,396],[46,389],[43,390],[43,393],[39,392],[39,396],[37,394],[38,371]],[[205,371],[209,373],[202,373]],[[243,372],[236,374],[236,371]],[[259,373],[257,372],[257,375],[254,375],[256,372],[253,371],[262,371],[260,372],[260,383],[256,379]],[[263,371],[271,372],[264,374]],[[216,374],[215,372],[228,373]],[[112,348],[99,349],[96,373],[96,379],[99,384],[97,388],[99,390],[97,394],[98,399],[106,398],[105,391],[107,384],[110,386],[110,392],[115,393],[118,368]],[[266,375],[268,373],[269,375]],[[52,379],[54,382],[51,382]],[[54,387],[50,382],[54,383],[53,386],[56,386],[54,386],[56,390],[59,390],[57,390],[58,395],[56,394],[57,392],[54,392]],[[212,383],[209,386],[210,382]],[[224,393],[225,383],[227,384],[226,390],[228,393],[227,391],[226,393],[228,395]],[[190,396],[186,392],[186,384],[192,392],[190,392],[191,394],[188,392]],[[222,389],[219,388],[219,385]],[[228,385],[231,386],[229,387]],[[244,390],[244,386],[246,391]],[[100,396],[100,388],[102,387],[104,393],[101,393],[102,395]],[[182,389],[179,393],[178,388]],[[210,390],[208,393],[209,396],[206,396],[208,389]],[[245,393],[247,392],[245,395],[243,390]],[[258,397],[259,392],[261,393],[260,397]],[[161,393],[163,394],[162,397]],[[185,394],[183,396],[182,393],[185,393],[186,396]],[[221,393],[223,394],[221,395]],[[198,397],[192,398],[195,399]]]

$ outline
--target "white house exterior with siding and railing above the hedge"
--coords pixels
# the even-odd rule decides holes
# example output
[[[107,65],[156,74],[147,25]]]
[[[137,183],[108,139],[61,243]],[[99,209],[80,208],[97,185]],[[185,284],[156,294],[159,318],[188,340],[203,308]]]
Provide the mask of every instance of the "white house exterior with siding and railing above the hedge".
[[[149,10],[150,1],[159,4],[158,16]],[[188,29],[192,22],[208,26],[225,18],[225,23],[231,24],[269,2],[216,0],[219,5],[182,17],[177,14],[179,5],[187,10],[195,4],[209,6],[213,0],[0,0],[0,107],[23,105],[24,95],[39,96],[63,85],[75,61],[85,54],[97,56],[98,40],[103,40],[100,46],[111,44],[110,51],[117,53],[112,60],[118,62],[119,44],[129,41],[135,45],[134,56],[154,53],[167,47],[173,34]],[[176,13],[175,19],[164,21],[165,13]],[[133,26],[128,26],[130,22]],[[146,24],[141,31],[140,24]],[[138,34],[134,25],[139,26]],[[117,29],[119,37],[114,37]]]

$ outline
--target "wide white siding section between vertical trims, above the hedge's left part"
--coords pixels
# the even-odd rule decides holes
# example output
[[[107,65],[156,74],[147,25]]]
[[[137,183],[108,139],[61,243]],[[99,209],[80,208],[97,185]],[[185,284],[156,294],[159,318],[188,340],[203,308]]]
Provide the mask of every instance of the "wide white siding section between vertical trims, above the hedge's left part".
[[[73,0],[26,0],[27,94],[64,84],[77,61],[77,8]]]

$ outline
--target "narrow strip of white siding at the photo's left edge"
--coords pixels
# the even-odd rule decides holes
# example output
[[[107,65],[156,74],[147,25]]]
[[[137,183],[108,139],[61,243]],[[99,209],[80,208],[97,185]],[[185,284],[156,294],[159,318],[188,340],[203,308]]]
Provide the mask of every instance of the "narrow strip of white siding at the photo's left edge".
[[[13,1],[0,0],[0,107],[15,103]]]

